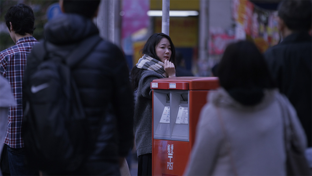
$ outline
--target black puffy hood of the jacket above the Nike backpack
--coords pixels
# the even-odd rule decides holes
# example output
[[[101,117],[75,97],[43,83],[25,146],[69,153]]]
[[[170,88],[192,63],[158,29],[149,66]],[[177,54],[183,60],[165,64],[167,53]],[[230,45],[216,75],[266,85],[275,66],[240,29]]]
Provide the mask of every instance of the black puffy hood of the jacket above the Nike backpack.
[[[61,14],[46,23],[45,38],[53,44],[70,44],[99,33],[91,19],[78,14]]]

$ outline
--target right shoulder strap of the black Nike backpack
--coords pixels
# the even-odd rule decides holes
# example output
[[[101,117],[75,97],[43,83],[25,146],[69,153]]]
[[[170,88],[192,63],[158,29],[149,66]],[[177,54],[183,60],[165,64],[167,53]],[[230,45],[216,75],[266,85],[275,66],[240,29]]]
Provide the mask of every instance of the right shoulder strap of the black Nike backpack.
[[[77,48],[67,57],[66,64],[70,68],[77,66],[102,40],[98,34],[86,38],[77,46]]]

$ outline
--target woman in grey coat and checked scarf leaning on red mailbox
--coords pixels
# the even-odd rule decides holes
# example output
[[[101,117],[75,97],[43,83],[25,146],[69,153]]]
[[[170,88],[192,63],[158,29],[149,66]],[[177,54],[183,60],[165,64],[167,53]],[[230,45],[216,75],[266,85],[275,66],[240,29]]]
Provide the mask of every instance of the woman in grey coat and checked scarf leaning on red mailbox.
[[[152,175],[152,89],[154,79],[175,77],[175,49],[170,37],[155,33],[145,43],[144,56],[132,68],[131,80],[137,98],[134,133],[139,158],[138,175]]]

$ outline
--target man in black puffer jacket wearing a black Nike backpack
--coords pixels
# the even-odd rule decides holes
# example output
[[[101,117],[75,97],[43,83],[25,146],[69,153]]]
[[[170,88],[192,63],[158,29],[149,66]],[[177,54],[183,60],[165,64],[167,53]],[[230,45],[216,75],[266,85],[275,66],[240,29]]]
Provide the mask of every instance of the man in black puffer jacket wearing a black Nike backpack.
[[[120,175],[133,144],[133,95],[122,51],[92,22],[100,1],[60,1],[27,61],[27,163],[44,175]]]

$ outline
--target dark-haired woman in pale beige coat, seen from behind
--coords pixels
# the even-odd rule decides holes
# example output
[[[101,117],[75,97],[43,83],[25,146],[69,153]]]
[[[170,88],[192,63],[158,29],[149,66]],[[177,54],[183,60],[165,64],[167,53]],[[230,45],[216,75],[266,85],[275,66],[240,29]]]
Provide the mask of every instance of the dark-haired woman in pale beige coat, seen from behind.
[[[254,43],[230,44],[218,65],[221,88],[208,95],[185,175],[286,175],[284,118],[302,149],[295,109],[275,88]]]

